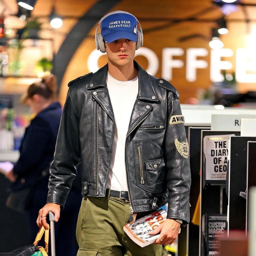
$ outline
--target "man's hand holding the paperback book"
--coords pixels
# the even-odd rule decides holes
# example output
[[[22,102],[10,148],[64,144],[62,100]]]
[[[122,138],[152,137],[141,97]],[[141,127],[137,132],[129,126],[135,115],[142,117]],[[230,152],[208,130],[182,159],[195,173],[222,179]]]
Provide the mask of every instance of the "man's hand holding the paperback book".
[[[155,241],[155,244],[162,244],[164,246],[172,244],[178,237],[180,231],[180,224],[172,219],[166,219],[164,223],[159,225],[156,229],[149,232],[150,235],[160,233],[160,237]]]

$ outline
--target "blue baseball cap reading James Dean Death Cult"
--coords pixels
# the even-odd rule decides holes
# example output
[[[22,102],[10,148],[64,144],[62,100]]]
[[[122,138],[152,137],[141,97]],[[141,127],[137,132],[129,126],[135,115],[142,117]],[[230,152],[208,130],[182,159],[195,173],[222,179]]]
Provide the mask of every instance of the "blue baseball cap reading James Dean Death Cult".
[[[100,29],[108,43],[121,38],[137,41],[137,19],[130,14],[115,13],[107,16],[102,20]]]

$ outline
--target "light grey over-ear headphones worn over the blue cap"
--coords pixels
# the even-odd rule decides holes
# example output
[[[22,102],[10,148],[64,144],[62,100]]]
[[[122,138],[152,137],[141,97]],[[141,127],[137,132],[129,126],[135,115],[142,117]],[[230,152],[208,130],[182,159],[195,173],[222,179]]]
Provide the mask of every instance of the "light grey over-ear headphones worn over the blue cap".
[[[117,13],[125,13],[125,14],[129,14],[131,16],[133,16],[136,20],[137,20],[137,23],[139,24],[139,27],[140,27],[140,30],[137,31],[137,42],[136,42],[136,50],[138,50],[142,45],[143,45],[143,32],[142,32],[142,28],[141,28],[141,25],[139,23],[139,20],[131,13],[129,12],[125,12],[125,11],[113,11],[113,12],[110,12],[108,14],[106,14],[105,16],[103,16],[97,27],[96,27],[96,30],[95,30],[95,44],[96,44],[96,48],[97,50],[100,50],[101,52],[106,52],[106,48],[105,48],[105,44],[104,44],[104,39],[103,39],[103,36],[101,35],[101,33],[98,33],[97,34],[97,31],[98,31],[98,27],[99,25],[101,24],[102,20],[112,14],[117,14]]]

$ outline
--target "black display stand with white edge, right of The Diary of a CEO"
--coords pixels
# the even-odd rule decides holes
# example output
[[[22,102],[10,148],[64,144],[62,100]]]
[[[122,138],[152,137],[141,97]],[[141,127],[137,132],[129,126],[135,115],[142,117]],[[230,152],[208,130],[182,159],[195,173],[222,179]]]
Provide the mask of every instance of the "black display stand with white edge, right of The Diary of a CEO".
[[[246,230],[246,197],[244,198],[244,195],[247,181],[248,141],[256,141],[256,137],[230,138],[228,233],[231,229]]]

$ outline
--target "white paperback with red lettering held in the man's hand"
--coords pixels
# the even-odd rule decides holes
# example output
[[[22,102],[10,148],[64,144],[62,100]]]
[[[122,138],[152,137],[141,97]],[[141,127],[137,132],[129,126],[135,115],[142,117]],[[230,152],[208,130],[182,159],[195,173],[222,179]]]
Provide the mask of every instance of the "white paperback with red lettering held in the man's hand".
[[[150,215],[135,221],[132,225],[127,224],[123,227],[124,232],[140,247],[153,244],[160,236],[156,234],[150,236],[148,232],[153,231],[160,224],[162,224],[167,217],[167,212],[159,209]]]

